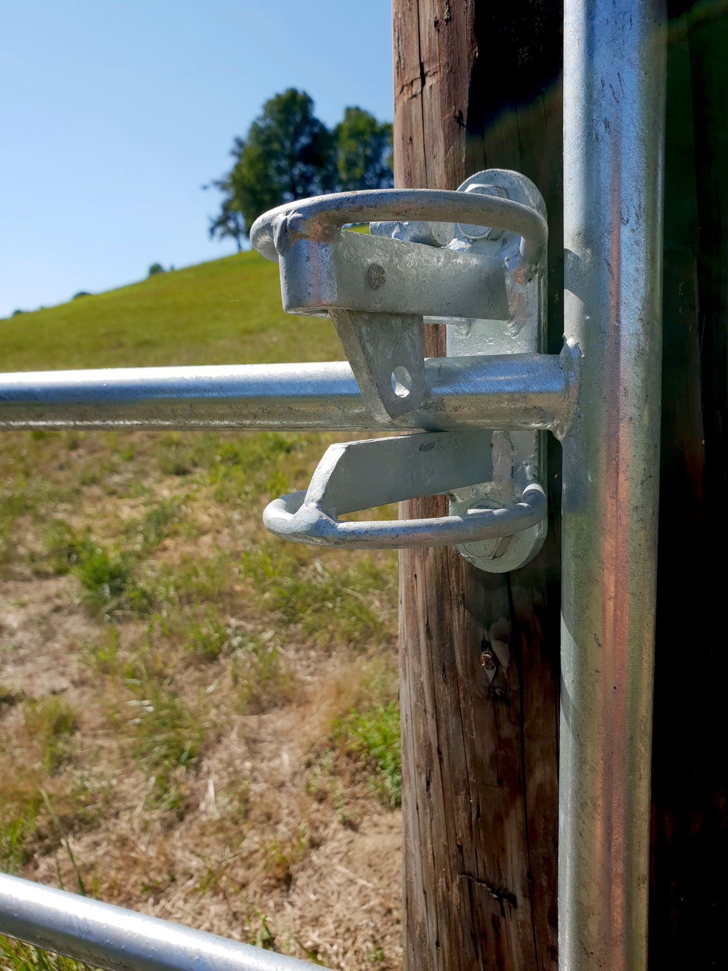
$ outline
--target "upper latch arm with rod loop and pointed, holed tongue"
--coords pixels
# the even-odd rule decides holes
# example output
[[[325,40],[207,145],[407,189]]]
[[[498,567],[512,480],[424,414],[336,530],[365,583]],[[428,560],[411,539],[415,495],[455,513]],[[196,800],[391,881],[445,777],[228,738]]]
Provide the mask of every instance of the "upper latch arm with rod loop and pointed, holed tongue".
[[[367,238],[343,231],[348,223],[373,217],[460,219],[466,226],[494,222],[510,229],[509,238],[516,241],[509,253],[511,266],[507,268],[500,253],[491,258],[490,253],[455,245],[457,238],[445,248],[393,246],[376,233]],[[383,413],[382,422],[414,411],[423,400],[424,344],[416,334],[416,318],[509,316],[509,273],[529,279],[546,237],[546,218],[532,206],[495,194],[431,189],[316,196],[271,210],[250,229],[255,249],[280,263],[283,310],[325,311],[337,331],[341,325],[340,339],[354,377],[372,414]],[[368,324],[363,315],[375,319]],[[382,335],[402,323],[407,336],[401,341],[384,337],[378,351],[371,342],[372,329]],[[412,377],[414,386],[407,394],[397,391],[397,368]]]

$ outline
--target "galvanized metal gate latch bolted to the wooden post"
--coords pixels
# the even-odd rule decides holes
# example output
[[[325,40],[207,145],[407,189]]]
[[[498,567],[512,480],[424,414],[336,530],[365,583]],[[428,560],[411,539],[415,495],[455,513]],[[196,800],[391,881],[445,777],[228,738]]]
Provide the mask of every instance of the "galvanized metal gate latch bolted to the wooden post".
[[[370,234],[347,232],[370,222]],[[491,169],[456,192],[383,189],[318,196],[258,218],[253,247],[281,267],[283,309],[328,315],[373,419],[422,431],[333,445],[305,492],[263,515],[278,536],[351,548],[457,545],[482,570],[528,562],[546,537],[546,429],[563,434],[575,406],[575,349],[543,354],[546,206],[515,172]],[[423,324],[447,325],[451,380],[475,357],[497,366],[499,424],[438,420],[440,359],[425,361]],[[553,387],[552,407],[534,396]],[[470,373],[470,372],[469,372]],[[487,371],[483,381],[487,382]],[[442,380],[442,375],[439,375]],[[439,519],[340,516],[447,493]]]

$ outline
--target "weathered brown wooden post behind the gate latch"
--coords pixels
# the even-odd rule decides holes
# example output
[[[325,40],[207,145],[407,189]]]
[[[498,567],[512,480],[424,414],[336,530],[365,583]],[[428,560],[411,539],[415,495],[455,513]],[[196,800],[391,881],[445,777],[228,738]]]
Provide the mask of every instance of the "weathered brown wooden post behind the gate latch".
[[[507,16],[508,15],[508,16]],[[534,180],[549,213],[549,348],[560,350],[561,19],[466,0],[394,0],[395,184],[482,168]],[[428,354],[445,352],[428,327]],[[404,935],[408,971],[556,967],[560,450],[544,550],[513,575],[454,550],[402,552]],[[404,504],[441,516],[442,498]],[[498,642],[492,684],[480,664]]]

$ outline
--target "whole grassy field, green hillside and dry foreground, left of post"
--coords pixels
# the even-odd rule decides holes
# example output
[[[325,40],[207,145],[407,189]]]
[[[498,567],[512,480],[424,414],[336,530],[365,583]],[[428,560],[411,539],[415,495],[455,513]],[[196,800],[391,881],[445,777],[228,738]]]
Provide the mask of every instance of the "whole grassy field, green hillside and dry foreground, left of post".
[[[5,371],[333,360],[243,253],[0,321]],[[333,439],[0,436],[0,869],[397,969],[396,558],[262,527]],[[0,967],[75,968],[0,944]]]

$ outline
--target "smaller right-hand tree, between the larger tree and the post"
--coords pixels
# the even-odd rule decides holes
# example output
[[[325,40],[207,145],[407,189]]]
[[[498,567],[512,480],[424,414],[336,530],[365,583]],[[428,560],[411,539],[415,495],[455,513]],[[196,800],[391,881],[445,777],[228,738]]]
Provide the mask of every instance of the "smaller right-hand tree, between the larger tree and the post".
[[[337,188],[389,188],[392,176],[392,126],[361,108],[347,108],[334,129]]]

